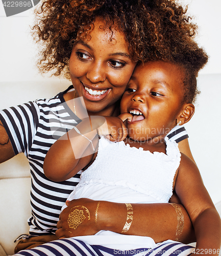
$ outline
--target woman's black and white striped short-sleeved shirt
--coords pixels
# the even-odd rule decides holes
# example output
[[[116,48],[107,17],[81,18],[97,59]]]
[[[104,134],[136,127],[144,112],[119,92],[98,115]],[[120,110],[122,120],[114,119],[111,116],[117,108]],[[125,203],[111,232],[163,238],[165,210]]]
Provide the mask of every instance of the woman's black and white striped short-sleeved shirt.
[[[80,180],[81,172],[63,182],[51,181],[43,173],[43,162],[49,148],[80,122],[63,98],[72,88],[70,86],[50,99],[30,101],[0,111],[0,120],[8,133],[15,155],[24,153],[30,164],[30,234],[55,233],[61,207]],[[181,130],[176,128],[170,132],[171,140],[178,142],[188,138],[184,127],[178,129]]]

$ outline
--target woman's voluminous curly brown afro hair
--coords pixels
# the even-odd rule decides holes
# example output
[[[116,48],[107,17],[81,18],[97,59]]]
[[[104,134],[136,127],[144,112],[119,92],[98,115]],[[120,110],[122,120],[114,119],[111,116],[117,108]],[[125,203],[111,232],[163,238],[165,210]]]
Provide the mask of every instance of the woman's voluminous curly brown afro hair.
[[[124,33],[137,62],[179,62],[194,75],[207,62],[192,39],[197,26],[175,0],[42,0],[35,14],[33,35],[41,46],[38,67],[43,73],[69,78],[73,44],[83,35],[90,39],[96,17],[105,21],[105,28],[117,26]]]

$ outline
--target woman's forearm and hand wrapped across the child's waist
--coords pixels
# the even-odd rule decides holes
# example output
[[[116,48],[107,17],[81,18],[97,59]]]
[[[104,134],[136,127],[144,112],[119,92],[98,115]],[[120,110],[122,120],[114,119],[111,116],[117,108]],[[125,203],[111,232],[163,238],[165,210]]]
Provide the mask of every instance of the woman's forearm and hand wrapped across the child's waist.
[[[121,233],[127,220],[127,208],[125,204],[101,201],[97,210],[97,223],[95,223],[95,211],[97,201],[90,199],[77,199],[67,203],[60,214],[60,220],[57,224],[58,238],[69,238],[75,236],[87,236],[95,234],[100,230],[110,230]],[[71,208],[77,205],[83,205],[90,211],[91,220],[85,220],[77,229],[68,226],[67,219]],[[156,243],[167,239],[176,240],[177,231],[177,213],[173,206],[166,203],[161,204],[132,204],[133,222],[126,234],[148,236],[154,239]],[[184,229],[179,239],[181,242],[190,243],[195,241],[194,230],[185,208],[180,205],[184,215]]]

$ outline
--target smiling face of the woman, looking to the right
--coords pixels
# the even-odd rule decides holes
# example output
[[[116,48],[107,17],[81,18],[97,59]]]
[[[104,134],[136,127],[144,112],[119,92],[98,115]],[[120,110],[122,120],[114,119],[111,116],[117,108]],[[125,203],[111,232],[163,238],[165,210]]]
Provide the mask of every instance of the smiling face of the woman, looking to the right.
[[[78,40],[73,46],[69,70],[77,95],[83,97],[87,111],[111,115],[116,101],[124,93],[136,62],[119,30],[103,29],[96,19],[90,40]]]

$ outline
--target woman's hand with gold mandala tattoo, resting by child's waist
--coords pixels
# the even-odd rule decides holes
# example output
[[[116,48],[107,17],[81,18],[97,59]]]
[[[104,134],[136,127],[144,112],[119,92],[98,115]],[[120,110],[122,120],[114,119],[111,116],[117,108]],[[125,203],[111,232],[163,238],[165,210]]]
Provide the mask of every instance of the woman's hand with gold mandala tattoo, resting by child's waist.
[[[87,198],[67,202],[67,207],[61,212],[57,223],[56,236],[59,239],[90,236],[100,231],[95,222],[97,203]]]

